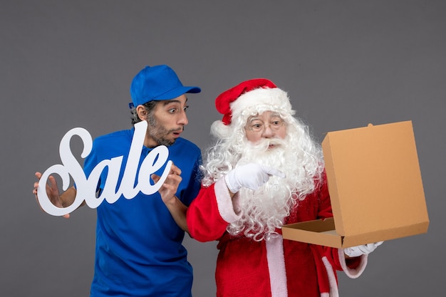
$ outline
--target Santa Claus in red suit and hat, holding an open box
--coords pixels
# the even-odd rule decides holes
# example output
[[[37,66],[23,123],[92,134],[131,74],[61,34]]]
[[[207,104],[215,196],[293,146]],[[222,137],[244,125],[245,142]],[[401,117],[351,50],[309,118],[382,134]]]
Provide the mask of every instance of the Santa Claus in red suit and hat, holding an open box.
[[[281,236],[281,226],[332,217],[321,147],[271,80],[247,80],[216,99],[222,120],[190,235],[219,241],[217,296],[338,296],[336,271],[361,275],[379,244],[333,249]]]

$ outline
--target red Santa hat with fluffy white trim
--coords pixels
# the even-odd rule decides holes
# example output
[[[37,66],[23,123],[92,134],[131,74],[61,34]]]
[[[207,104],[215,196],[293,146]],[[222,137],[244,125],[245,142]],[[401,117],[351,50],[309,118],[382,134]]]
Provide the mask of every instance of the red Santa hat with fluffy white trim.
[[[237,118],[244,110],[294,113],[286,92],[266,78],[246,80],[224,91],[215,99],[215,106],[223,115],[224,125],[230,125],[232,119]]]

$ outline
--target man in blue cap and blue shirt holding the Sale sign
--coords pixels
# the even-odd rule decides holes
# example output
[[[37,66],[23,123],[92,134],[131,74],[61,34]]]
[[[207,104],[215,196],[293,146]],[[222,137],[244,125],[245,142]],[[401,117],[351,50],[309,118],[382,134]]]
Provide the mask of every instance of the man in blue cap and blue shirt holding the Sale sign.
[[[139,192],[133,199],[120,197],[113,204],[103,202],[97,208],[91,297],[191,296],[192,267],[182,246],[186,226],[177,225],[176,212],[185,212],[199,191],[201,152],[180,135],[188,123],[185,94],[200,91],[198,87],[182,85],[172,68],[165,65],[147,66],[133,78],[133,124],[141,120],[148,123],[138,171],[144,157],[158,145],[168,147],[169,160],[174,165],[159,192],[150,196]],[[134,132],[133,128],[96,138],[85,159],[85,175],[88,177],[100,161],[121,155],[124,167]],[[121,168],[118,187],[123,171]],[[36,177],[40,179],[41,173],[36,172]],[[99,192],[104,189],[106,177],[103,172]],[[50,182],[47,193],[53,204],[70,205],[76,188],[59,196],[55,180],[50,178]],[[38,182],[34,184],[34,194],[37,187]]]

